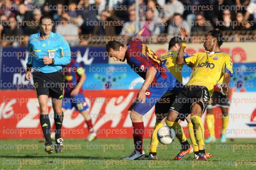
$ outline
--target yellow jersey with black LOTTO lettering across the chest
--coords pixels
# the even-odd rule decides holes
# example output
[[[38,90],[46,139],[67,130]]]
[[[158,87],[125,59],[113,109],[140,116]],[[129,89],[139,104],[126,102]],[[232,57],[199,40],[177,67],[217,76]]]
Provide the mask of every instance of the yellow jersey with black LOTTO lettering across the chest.
[[[185,57],[186,63],[194,64],[188,85],[202,85],[213,93],[213,86],[223,79],[224,73],[233,74],[233,63],[224,52],[197,52]]]

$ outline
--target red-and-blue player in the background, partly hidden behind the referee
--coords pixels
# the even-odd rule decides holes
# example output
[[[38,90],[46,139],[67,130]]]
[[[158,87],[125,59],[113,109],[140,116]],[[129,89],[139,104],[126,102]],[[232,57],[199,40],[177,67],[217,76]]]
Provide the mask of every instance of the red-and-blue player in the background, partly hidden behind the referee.
[[[85,119],[89,130],[89,136],[87,140],[90,142],[96,139],[96,133],[94,132],[93,125],[91,122],[91,118],[89,115],[89,106],[84,98],[82,85],[86,79],[86,74],[84,72],[84,68],[76,62],[74,59],[66,65],[65,68],[65,93],[62,102],[62,110],[63,112],[66,109],[72,109],[75,107]]]

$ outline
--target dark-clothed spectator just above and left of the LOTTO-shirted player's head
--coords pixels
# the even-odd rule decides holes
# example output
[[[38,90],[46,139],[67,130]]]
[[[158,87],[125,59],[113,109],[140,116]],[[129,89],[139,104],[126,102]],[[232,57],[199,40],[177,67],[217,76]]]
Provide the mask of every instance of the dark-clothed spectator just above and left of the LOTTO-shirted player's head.
[[[210,21],[207,21],[203,14],[197,14],[196,21],[192,22],[191,32],[208,32],[213,29]]]

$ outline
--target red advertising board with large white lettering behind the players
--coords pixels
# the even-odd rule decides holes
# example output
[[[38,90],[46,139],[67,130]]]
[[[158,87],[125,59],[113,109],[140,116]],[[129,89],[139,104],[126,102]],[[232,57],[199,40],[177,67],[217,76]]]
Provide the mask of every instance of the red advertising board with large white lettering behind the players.
[[[99,138],[131,138],[132,124],[127,109],[137,95],[137,90],[84,91],[90,106],[90,115]],[[43,137],[39,115],[40,108],[33,90],[0,91],[0,138],[41,138]],[[48,102],[51,127],[53,109]],[[144,116],[145,137],[150,137],[155,124],[154,108]],[[216,121],[219,122],[219,121]],[[188,134],[187,125],[182,123]],[[219,124],[217,124],[219,126]],[[88,131],[84,118],[74,110],[66,110],[62,124],[62,137],[85,138]]]

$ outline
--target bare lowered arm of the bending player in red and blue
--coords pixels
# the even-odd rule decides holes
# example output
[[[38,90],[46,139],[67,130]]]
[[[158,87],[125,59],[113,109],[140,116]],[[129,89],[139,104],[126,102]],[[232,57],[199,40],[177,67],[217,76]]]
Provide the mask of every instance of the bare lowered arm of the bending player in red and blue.
[[[145,102],[146,100],[146,90],[148,89],[148,87],[151,85],[151,83],[153,82],[154,77],[156,76],[156,69],[154,67],[151,67],[147,73],[146,73],[146,79],[145,82],[143,83],[143,85],[140,88],[140,91],[138,93],[138,97],[137,99],[139,101],[141,101],[142,103]]]

